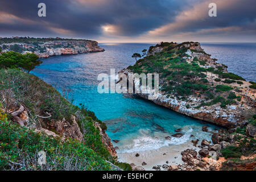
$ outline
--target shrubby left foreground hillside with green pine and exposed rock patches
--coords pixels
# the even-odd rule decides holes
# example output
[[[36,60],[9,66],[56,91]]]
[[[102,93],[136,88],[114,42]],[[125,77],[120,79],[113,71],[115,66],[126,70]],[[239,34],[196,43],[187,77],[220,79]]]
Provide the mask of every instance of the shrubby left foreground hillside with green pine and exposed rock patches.
[[[102,142],[105,123],[26,73],[40,63],[32,53],[0,55],[0,169],[130,169],[129,164],[118,163]],[[46,152],[46,165],[38,164],[39,151]]]

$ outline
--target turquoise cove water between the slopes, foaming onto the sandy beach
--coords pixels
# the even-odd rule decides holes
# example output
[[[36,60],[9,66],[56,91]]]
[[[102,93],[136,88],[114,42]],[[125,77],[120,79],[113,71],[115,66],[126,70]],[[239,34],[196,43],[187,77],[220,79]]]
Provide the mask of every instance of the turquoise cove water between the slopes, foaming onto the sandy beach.
[[[96,116],[108,126],[109,137],[120,140],[117,144],[114,143],[114,146],[119,147],[118,152],[157,149],[196,138],[210,140],[210,133],[201,131],[201,128],[207,125],[211,132],[217,129],[216,126],[185,117],[138,97],[97,92],[98,74],[110,74],[110,68],[115,68],[117,73],[122,68],[133,65],[135,60],[131,55],[152,45],[100,44],[106,49],[105,52],[49,57],[43,59],[43,64],[32,73],[60,91],[63,88],[68,90],[73,104],[81,103],[94,111]],[[205,46],[210,49],[211,44]],[[218,52],[216,51],[218,47],[215,44],[212,47],[214,49],[210,53],[212,57],[216,57],[214,51]],[[223,47],[220,46],[220,50],[222,49]],[[228,51],[225,50],[225,52]],[[251,76],[248,77],[251,78]],[[174,130],[178,128],[183,129],[181,131],[184,134],[183,137],[164,139],[167,135],[175,134]]]

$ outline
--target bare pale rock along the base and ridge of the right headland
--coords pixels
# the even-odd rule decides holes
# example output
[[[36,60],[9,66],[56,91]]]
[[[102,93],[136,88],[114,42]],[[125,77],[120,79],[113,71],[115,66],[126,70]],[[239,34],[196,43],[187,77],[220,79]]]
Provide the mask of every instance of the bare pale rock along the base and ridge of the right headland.
[[[179,45],[178,45],[179,46]],[[187,63],[191,63],[195,57],[198,57],[200,60],[204,60],[207,65],[201,65],[201,67],[205,68],[218,68],[221,67],[224,68],[224,72],[228,73],[226,70],[225,65],[221,65],[216,63],[216,59],[211,59],[210,55],[207,55],[203,49],[201,48],[199,43],[188,43],[188,44],[180,44],[178,49],[186,48],[187,57],[183,57],[187,61]],[[155,55],[156,53],[161,53],[163,51],[164,47],[155,47],[151,48],[147,52],[147,56]],[[191,51],[197,50],[196,52]],[[128,68],[124,68],[119,73],[124,73],[125,75],[129,75],[130,73],[133,73]],[[212,82],[213,86],[217,86],[220,84],[219,81],[214,81],[215,78],[218,78],[217,74],[214,73],[205,73],[206,77],[205,79],[208,82]],[[161,83],[162,80],[159,80]],[[232,84],[227,84],[224,82],[221,82],[222,85],[232,86],[233,88],[239,88],[233,90],[234,94],[236,96],[241,97],[241,100],[235,104],[230,104],[226,108],[223,108],[220,106],[220,104],[213,104],[213,105],[205,105],[201,107],[197,107],[200,105],[202,101],[205,100],[205,97],[200,97],[200,92],[195,92],[195,94],[188,96],[187,100],[184,101],[179,96],[171,96],[170,94],[161,91],[158,93],[158,96],[156,97],[156,100],[150,100],[154,102],[157,105],[167,107],[168,109],[174,110],[178,113],[187,115],[188,117],[200,119],[209,123],[213,123],[218,126],[226,127],[226,128],[232,128],[236,127],[238,123],[242,122],[245,118],[248,116],[253,115],[256,113],[256,90],[251,89],[249,85],[251,85],[247,81],[241,81],[241,84],[237,84],[237,82],[233,82]],[[160,86],[161,87],[161,86]],[[148,100],[148,94],[144,93],[138,93],[138,96]],[[189,107],[188,107],[189,106]]]

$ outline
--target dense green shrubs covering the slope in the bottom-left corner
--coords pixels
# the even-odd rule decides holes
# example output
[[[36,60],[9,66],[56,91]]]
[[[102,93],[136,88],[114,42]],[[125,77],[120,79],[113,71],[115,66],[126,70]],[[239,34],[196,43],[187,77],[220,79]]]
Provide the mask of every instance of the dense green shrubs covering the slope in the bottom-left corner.
[[[0,146],[0,170],[113,170],[82,142],[62,142],[10,121],[0,121]],[[39,166],[37,155],[42,150],[46,152],[46,165]]]

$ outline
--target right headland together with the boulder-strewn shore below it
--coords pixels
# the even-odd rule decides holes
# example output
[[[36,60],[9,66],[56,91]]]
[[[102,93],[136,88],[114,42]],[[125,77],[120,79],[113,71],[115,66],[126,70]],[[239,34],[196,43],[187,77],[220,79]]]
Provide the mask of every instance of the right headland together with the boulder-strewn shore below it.
[[[156,44],[135,65],[119,73],[159,73],[160,91],[152,102],[224,127],[209,132],[207,126],[203,126],[202,131],[212,135],[212,140],[192,139],[190,146],[180,151],[179,155],[171,159],[173,161],[169,160],[152,169],[256,169],[256,83],[229,73],[226,65],[212,59],[200,43]],[[148,99],[149,94],[138,93],[138,96]],[[176,132],[179,134],[180,131]],[[170,136],[166,139],[170,139]],[[170,157],[173,158],[172,155]],[[181,158],[181,161],[175,162],[176,158]],[[146,163],[143,162],[142,166]]]

